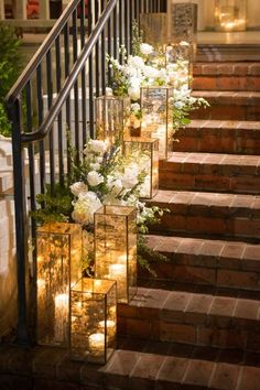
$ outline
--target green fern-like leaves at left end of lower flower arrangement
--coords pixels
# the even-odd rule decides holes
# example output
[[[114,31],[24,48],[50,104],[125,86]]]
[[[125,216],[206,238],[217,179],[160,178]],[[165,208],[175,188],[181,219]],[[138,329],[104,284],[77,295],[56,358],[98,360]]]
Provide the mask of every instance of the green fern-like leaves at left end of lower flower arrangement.
[[[71,215],[73,209],[69,188],[64,188],[56,184],[55,194],[52,195],[51,186],[46,185],[46,193],[39,194],[36,202],[40,208],[32,212],[31,216],[37,224],[68,221],[68,215]]]

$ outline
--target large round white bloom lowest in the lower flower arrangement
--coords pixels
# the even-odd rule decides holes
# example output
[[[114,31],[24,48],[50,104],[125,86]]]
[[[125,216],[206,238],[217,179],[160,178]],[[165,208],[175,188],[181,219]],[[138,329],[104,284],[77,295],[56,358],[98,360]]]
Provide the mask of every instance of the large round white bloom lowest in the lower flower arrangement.
[[[79,194],[78,201],[74,204],[74,210],[72,213],[73,219],[78,224],[93,224],[94,214],[101,207],[101,202],[97,195],[88,191],[87,193]]]

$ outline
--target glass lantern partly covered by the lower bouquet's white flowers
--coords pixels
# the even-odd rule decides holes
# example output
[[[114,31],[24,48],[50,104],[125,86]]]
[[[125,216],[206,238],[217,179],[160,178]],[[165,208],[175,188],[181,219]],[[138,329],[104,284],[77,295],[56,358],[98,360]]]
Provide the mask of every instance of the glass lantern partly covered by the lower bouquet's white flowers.
[[[143,137],[126,139],[123,154],[127,161],[124,173],[145,174],[140,197],[152,198],[159,187],[159,140]]]

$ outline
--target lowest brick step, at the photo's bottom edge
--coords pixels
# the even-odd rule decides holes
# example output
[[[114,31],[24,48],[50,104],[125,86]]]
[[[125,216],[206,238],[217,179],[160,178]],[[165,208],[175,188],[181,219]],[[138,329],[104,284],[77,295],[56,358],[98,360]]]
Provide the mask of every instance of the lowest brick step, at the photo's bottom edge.
[[[71,361],[66,350],[55,347],[34,347],[29,351],[2,346],[0,351],[6,358],[0,361],[1,389],[257,390],[260,380],[260,368],[247,360],[208,360],[199,355],[178,356],[178,350],[164,356],[158,351],[118,349],[101,367]]]

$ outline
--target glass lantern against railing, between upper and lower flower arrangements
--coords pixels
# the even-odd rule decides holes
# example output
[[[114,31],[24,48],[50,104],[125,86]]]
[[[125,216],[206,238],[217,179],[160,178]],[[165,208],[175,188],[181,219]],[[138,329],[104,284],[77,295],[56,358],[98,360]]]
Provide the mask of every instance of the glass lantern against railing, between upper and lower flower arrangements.
[[[127,120],[130,113],[130,98],[100,96],[96,99],[96,138],[109,147],[122,144]]]

